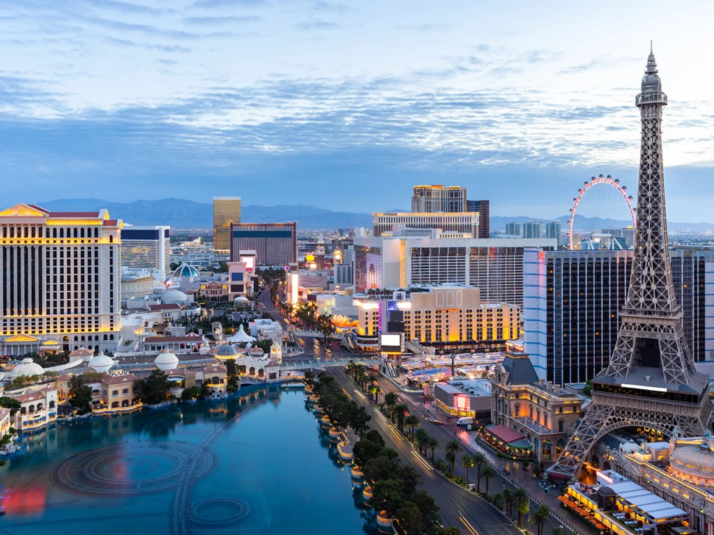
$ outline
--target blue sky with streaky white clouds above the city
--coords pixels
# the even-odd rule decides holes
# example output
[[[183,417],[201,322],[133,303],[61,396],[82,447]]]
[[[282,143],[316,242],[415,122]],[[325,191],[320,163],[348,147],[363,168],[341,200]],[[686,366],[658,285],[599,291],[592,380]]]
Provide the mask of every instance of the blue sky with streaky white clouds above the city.
[[[495,215],[635,194],[650,39],[668,218],[714,221],[714,2],[0,0],[6,205],[168,197]]]

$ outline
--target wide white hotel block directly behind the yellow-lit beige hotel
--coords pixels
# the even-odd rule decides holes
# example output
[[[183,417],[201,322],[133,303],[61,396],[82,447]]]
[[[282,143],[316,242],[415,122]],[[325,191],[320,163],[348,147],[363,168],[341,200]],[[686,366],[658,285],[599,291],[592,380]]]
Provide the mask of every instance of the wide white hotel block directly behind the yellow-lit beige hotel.
[[[354,239],[357,292],[410,288],[420,284],[462,284],[481,290],[482,302],[523,305],[523,250],[555,249],[557,240],[481,240],[430,236]]]

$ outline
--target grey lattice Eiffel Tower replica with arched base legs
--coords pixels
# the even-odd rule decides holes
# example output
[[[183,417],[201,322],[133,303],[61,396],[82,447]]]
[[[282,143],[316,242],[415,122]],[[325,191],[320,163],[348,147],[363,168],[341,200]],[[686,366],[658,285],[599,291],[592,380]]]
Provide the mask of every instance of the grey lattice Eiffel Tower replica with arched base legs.
[[[608,367],[593,379],[593,402],[549,473],[577,477],[590,448],[623,427],[701,437],[712,402],[697,372],[672,283],[665,213],[662,111],[667,96],[650,56],[635,98],[642,121],[635,252],[620,331]]]

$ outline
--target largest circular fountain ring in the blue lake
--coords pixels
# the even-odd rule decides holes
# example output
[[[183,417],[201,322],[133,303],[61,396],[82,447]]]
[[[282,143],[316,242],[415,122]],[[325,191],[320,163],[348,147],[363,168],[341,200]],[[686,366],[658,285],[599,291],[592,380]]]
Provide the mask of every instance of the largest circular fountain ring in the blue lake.
[[[216,465],[207,449],[184,442],[135,442],[89,449],[66,459],[54,472],[54,483],[81,494],[133,496],[165,491],[205,476]]]

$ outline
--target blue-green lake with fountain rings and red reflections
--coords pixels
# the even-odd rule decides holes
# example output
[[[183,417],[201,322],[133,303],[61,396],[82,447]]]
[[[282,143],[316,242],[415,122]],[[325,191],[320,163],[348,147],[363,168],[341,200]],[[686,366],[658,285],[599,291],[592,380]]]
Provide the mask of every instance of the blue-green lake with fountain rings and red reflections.
[[[77,419],[0,467],[0,533],[373,534],[303,389]]]

